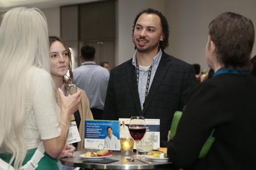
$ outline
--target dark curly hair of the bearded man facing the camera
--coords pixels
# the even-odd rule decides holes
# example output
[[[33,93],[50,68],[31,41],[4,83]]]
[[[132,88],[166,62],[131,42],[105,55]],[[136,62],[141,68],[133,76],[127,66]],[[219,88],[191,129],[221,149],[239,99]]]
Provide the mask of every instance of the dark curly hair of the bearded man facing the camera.
[[[164,39],[163,41],[159,42],[159,48],[164,50],[169,46],[169,26],[168,26],[168,22],[165,16],[163,16],[163,14],[157,10],[154,10],[152,8],[147,8],[146,10],[143,10],[141,12],[139,12],[139,14],[136,16],[135,20],[134,20],[134,24],[133,24],[133,36],[134,36],[134,29],[135,29],[135,25],[137,23],[137,20],[139,18],[139,16],[141,16],[142,14],[155,14],[158,15],[160,18],[160,23],[161,23],[161,27],[162,27],[162,31],[163,31],[163,35],[164,35]],[[136,46],[135,46],[136,49]]]

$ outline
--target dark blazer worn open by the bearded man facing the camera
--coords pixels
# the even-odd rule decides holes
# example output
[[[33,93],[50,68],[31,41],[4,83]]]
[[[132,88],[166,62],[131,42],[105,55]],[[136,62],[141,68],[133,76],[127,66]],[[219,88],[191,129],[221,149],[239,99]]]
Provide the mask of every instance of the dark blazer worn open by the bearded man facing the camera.
[[[103,120],[131,116],[160,119],[160,146],[163,147],[175,111],[183,110],[188,93],[196,84],[195,70],[192,65],[163,52],[142,111],[132,60],[110,71]]]

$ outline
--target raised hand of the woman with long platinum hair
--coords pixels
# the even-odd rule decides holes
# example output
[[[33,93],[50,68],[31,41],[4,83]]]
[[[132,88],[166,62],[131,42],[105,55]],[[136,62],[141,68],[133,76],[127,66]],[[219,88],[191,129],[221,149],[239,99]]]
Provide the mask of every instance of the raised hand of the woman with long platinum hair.
[[[82,99],[82,92],[77,90],[75,94],[71,96],[64,96],[63,92],[58,88],[61,102],[61,112],[69,113],[72,116],[73,113],[77,111],[80,105],[80,100]]]

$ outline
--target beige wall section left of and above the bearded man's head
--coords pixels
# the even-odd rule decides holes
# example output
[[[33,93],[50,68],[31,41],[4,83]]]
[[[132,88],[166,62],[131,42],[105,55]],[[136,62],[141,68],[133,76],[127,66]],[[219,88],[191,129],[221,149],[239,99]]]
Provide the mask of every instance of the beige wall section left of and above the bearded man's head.
[[[135,52],[132,39],[133,22],[136,15],[144,8],[155,8],[163,11],[166,0],[119,0],[118,1],[118,43],[116,44],[117,54],[115,65],[127,61],[133,57]]]

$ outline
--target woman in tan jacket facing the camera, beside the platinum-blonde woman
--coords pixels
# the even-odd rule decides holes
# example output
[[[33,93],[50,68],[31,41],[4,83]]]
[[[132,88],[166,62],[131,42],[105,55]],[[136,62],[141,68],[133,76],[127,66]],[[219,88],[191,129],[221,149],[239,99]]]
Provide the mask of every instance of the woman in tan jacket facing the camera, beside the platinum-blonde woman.
[[[56,88],[61,88],[63,84],[73,82],[71,52],[68,45],[56,36],[49,37],[49,56],[51,58],[51,75]],[[69,75],[67,75],[69,73]],[[81,141],[73,145],[78,151],[84,148],[85,120],[93,120],[92,112],[89,108],[89,100],[84,90],[81,90],[82,99],[78,111],[74,113],[76,125],[79,129]]]

